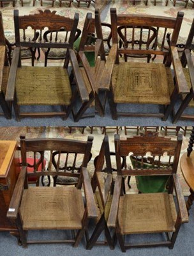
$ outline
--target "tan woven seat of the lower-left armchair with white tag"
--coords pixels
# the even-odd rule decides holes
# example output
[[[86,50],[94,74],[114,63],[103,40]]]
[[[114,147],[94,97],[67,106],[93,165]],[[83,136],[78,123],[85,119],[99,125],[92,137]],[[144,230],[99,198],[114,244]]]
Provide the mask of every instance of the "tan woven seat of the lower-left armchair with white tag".
[[[47,193],[43,193],[43,190]],[[24,230],[81,229],[84,215],[82,192],[76,188],[24,189],[21,216]]]

